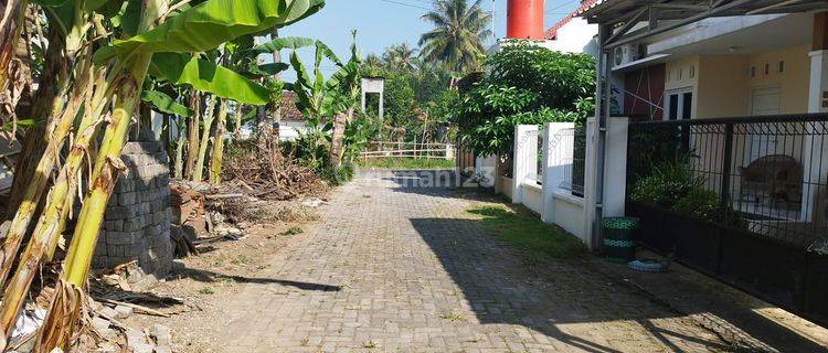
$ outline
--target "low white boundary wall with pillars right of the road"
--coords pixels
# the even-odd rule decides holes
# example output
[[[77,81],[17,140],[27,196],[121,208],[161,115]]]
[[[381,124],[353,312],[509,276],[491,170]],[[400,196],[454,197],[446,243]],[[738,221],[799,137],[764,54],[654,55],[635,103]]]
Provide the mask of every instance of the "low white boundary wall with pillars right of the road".
[[[503,194],[514,204],[522,204],[538,213],[545,223],[556,224],[575,235],[586,245],[596,236],[593,223],[597,190],[595,188],[595,119],[586,124],[586,162],[584,197],[572,194],[565,184],[566,171],[572,170],[574,139],[572,122],[550,122],[542,131],[542,180],[538,175],[539,129],[533,125],[514,128],[514,154],[512,179],[505,183]],[[611,118],[607,122],[605,154],[604,202],[602,216],[623,216],[626,197],[627,170],[627,118]]]

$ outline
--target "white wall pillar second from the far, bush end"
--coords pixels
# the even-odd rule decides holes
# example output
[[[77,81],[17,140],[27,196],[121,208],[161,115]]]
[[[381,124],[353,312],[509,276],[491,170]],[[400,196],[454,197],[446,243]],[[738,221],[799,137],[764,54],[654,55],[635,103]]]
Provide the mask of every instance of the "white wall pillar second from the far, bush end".
[[[543,213],[541,220],[554,222],[554,193],[573,171],[575,124],[549,122],[543,128]]]

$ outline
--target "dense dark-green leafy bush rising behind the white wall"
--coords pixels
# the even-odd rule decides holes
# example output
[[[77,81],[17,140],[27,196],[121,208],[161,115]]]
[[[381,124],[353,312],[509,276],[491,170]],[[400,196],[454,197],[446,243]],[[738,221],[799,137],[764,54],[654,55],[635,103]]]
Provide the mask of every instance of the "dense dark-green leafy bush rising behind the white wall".
[[[516,125],[581,126],[594,111],[595,63],[588,55],[510,43],[487,67],[455,110],[460,142],[477,153],[510,154]]]

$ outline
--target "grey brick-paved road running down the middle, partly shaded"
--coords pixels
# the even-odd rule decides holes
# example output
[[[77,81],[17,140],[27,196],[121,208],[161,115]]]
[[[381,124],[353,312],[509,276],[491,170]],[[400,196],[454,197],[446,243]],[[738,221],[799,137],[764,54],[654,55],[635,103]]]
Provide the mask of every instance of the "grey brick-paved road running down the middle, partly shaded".
[[[529,263],[468,193],[363,176],[227,309],[226,352],[708,352],[719,338],[588,265]],[[219,333],[216,333],[219,334]]]

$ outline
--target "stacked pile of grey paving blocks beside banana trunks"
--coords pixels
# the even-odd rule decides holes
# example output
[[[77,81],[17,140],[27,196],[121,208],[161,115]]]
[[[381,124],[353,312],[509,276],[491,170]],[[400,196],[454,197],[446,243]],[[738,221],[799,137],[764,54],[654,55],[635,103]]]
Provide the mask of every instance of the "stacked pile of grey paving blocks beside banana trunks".
[[[128,142],[123,160],[128,174],[109,200],[93,265],[138,260],[144,274],[162,278],[172,264],[167,152],[161,142]]]

